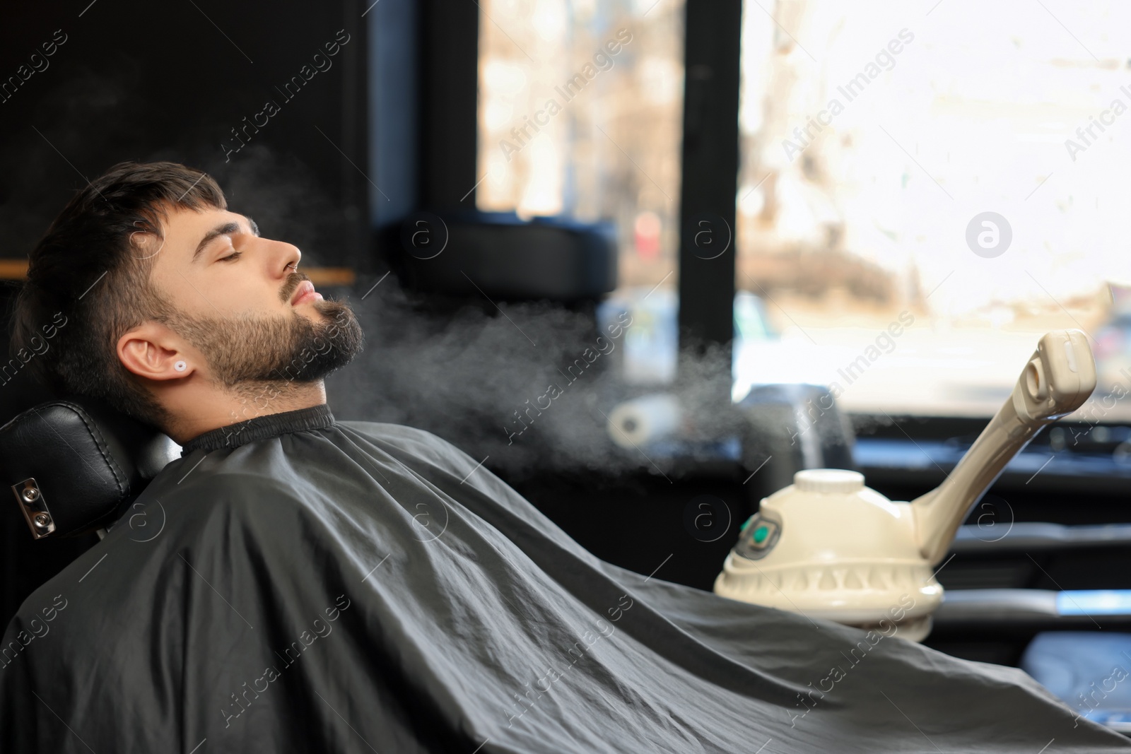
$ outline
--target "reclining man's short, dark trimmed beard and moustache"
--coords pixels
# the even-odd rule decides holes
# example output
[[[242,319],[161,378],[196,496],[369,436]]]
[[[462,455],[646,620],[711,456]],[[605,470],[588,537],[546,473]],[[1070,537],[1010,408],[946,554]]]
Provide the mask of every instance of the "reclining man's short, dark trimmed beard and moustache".
[[[293,274],[280,298],[290,301],[305,279]],[[311,305],[322,315],[319,321],[297,311],[228,319],[176,312],[169,327],[204,354],[213,379],[226,390],[241,395],[269,384],[286,392],[285,385],[321,380],[362,350],[361,324],[348,304],[322,300]]]

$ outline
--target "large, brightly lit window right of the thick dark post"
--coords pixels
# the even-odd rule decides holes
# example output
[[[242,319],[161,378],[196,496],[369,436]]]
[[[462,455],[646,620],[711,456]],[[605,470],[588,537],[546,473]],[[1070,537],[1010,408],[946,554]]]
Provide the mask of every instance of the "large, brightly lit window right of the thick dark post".
[[[736,392],[988,416],[1059,328],[1090,333],[1097,398],[1131,390],[1129,21],[1116,2],[746,0],[736,286],[783,336],[744,347]]]

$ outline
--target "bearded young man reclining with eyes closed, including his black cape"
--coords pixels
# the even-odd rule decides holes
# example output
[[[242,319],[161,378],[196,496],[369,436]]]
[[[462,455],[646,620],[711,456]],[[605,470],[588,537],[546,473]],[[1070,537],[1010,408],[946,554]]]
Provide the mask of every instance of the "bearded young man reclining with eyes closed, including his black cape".
[[[1126,748],[1020,670],[619,569],[443,440],[337,421],[361,330],[300,258],[169,163],[115,166],[32,251],[17,348],[62,312],[32,363],[183,456],[144,531],[8,626],[2,751]]]

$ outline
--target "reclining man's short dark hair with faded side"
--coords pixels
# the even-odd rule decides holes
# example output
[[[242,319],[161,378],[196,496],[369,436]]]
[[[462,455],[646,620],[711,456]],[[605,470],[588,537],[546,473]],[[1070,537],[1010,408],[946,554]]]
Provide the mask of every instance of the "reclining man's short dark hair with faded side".
[[[58,395],[102,398],[158,427],[170,418],[118,359],[118,339],[175,314],[150,283],[174,208],[226,209],[206,173],[176,163],[119,163],[75,194],[28,254],[12,312],[12,355]],[[156,243],[135,244],[152,233]],[[16,361],[16,359],[12,359]]]

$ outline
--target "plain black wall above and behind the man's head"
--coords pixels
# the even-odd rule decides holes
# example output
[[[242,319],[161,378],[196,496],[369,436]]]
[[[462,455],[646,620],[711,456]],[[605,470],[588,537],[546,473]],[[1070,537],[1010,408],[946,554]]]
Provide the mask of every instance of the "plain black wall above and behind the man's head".
[[[296,243],[308,266],[363,261],[363,10],[351,0],[6,8],[0,83],[20,85],[0,102],[0,258],[25,255],[86,179],[123,159],[172,159],[211,173],[233,209]],[[44,57],[54,37],[66,42]],[[314,54],[336,38],[349,41],[319,70]],[[43,70],[21,80],[20,67],[27,75],[33,63]],[[294,76],[303,85],[292,84],[288,99],[280,90]],[[240,146],[232,129],[268,101],[278,112],[227,154],[224,144]]]

